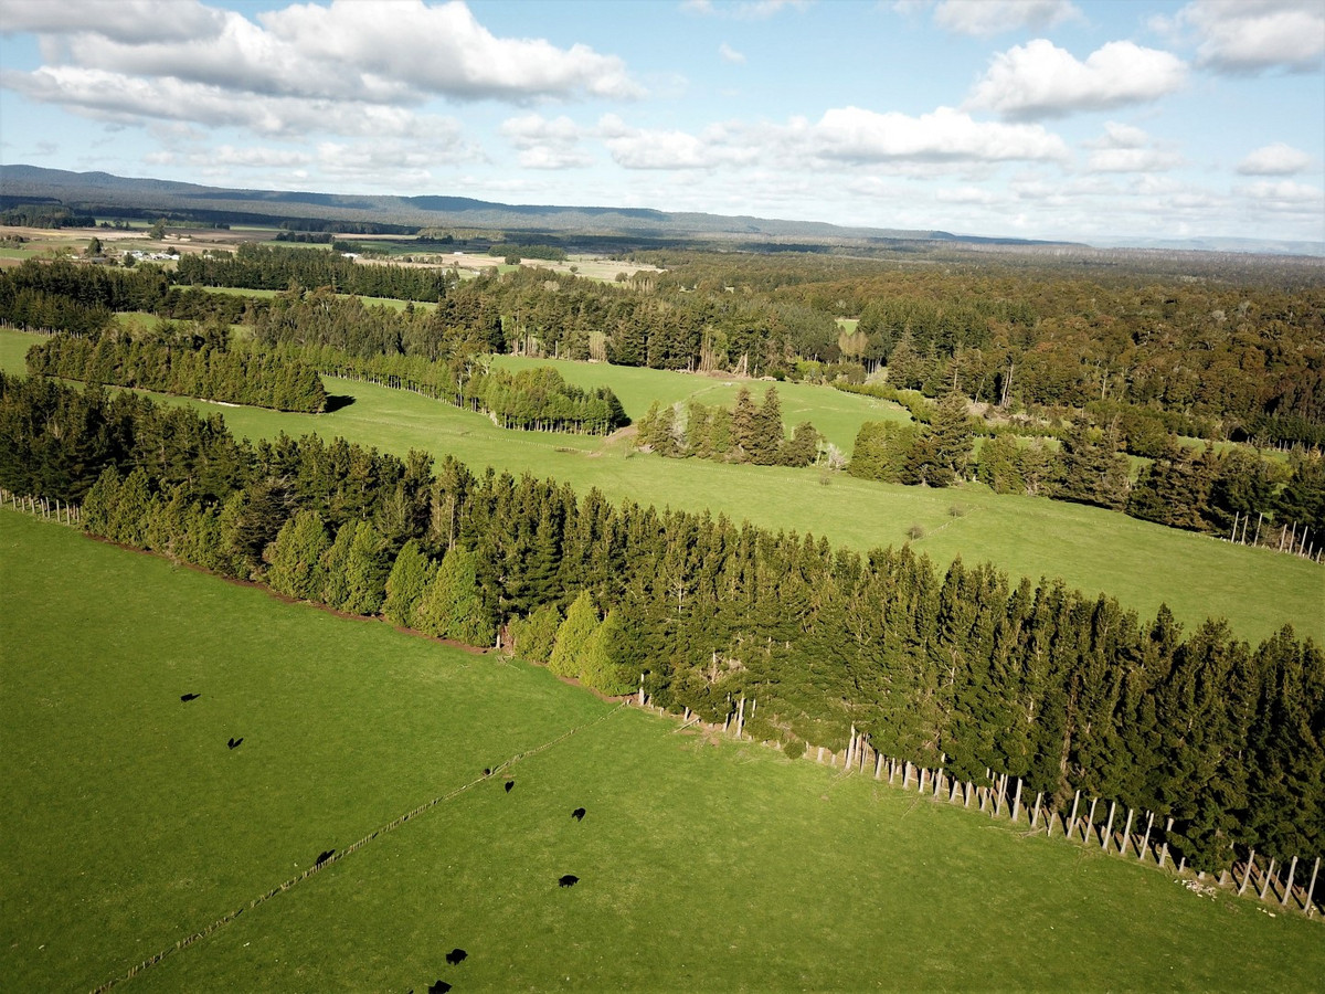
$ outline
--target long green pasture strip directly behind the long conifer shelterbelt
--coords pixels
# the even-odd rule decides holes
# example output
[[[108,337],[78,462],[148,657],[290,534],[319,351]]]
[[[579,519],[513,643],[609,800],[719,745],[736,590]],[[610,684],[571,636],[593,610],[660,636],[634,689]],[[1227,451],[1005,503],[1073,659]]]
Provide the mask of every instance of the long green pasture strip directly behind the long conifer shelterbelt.
[[[0,331],[0,367],[21,372],[24,353],[34,341],[34,335]],[[602,370],[632,372],[583,368],[595,375]],[[294,415],[180,398],[163,400],[221,412],[236,435],[250,439],[282,431],[292,436],[317,432],[401,456],[411,448],[449,453],[476,470],[492,465],[515,474],[554,477],[582,492],[598,488],[613,501],[708,509],[734,521],[812,531],[859,550],[901,545],[912,525],[918,525],[924,537],[913,546],[938,563],[961,555],[967,563],[994,562],[1014,577],[1061,577],[1069,587],[1105,591],[1143,616],[1167,603],[1189,627],[1207,616],[1224,616],[1234,631],[1253,641],[1285,623],[1298,635],[1325,640],[1325,573],[1318,565],[1265,549],[1235,546],[1100,508],[996,496],[979,485],[942,490],[839,473],[825,486],[815,468],[666,460],[633,452],[628,439],[504,431],[484,415],[415,394],[330,378],[326,383],[330,394],[351,396],[354,403],[331,415]]]

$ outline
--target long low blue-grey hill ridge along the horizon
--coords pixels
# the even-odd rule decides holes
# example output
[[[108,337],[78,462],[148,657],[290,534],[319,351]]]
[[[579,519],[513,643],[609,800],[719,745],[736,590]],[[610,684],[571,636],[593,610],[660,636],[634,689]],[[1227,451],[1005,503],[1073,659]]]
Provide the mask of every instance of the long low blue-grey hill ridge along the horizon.
[[[624,239],[702,239],[734,243],[869,245],[934,243],[1061,245],[1028,239],[984,239],[942,231],[845,228],[818,221],[686,213],[627,207],[501,204],[462,196],[384,196],[228,190],[109,172],[68,172],[38,166],[0,166],[0,205],[60,201],[78,213],[178,212],[225,223],[346,221],[401,228],[484,228]]]

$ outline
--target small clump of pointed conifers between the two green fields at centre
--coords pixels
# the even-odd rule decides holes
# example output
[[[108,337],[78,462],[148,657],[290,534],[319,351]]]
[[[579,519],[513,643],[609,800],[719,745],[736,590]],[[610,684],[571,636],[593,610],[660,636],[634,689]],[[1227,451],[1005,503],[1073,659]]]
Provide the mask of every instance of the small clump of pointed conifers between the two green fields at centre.
[[[810,421],[787,437],[782,425],[778,390],[768,387],[757,404],[741,387],[735,407],[662,404],[655,400],[640,419],[635,444],[669,459],[712,459],[719,463],[753,463],[757,467],[808,467],[819,457],[822,436]]]

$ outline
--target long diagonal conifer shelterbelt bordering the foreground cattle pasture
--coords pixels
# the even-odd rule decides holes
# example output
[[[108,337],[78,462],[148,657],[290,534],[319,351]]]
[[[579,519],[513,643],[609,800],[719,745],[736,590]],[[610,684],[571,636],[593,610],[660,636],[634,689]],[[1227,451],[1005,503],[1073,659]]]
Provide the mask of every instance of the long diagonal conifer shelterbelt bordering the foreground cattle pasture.
[[[293,596],[515,648],[606,693],[755,738],[872,745],[958,778],[1022,777],[1171,816],[1198,868],[1325,842],[1325,655],[1183,634],[1061,583],[937,573],[553,481],[473,476],[309,436],[237,441],[219,416],[0,376],[0,486],[81,501],[86,527]],[[1158,819],[1157,819],[1158,823]]]

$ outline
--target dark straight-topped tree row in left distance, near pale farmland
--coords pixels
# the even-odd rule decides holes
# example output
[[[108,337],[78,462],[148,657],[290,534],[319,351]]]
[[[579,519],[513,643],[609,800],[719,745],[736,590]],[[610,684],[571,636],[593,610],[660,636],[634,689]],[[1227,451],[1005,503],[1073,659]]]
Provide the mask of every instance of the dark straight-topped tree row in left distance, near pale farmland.
[[[241,286],[284,290],[299,286],[330,286],[338,293],[364,297],[399,297],[436,301],[447,293],[447,277],[436,269],[392,265],[358,265],[338,252],[284,248],[244,243],[233,256],[183,256],[175,281],[200,286]]]

